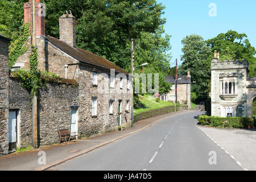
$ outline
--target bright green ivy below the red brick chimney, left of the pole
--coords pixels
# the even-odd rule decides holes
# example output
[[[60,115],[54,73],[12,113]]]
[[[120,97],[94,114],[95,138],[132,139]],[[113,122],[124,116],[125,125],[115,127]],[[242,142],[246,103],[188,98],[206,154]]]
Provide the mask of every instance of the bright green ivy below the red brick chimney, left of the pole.
[[[23,24],[20,32],[19,38],[12,41],[9,46],[9,70],[13,67],[18,57],[27,52],[28,47],[25,43],[28,36],[30,36],[30,23]]]

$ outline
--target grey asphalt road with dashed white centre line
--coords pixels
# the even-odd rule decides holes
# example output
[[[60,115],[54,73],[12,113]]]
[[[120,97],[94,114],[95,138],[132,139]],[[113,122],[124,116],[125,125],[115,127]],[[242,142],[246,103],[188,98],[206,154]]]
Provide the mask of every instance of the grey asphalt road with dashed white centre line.
[[[197,128],[200,111],[174,115],[51,169],[86,171],[242,170]],[[216,158],[214,158],[216,156]]]

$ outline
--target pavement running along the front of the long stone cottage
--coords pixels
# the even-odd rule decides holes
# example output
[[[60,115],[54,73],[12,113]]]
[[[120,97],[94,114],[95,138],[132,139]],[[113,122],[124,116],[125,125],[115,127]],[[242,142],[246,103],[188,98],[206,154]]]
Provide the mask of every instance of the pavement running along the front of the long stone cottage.
[[[76,142],[67,142],[55,144],[51,146],[43,146],[37,150],[15,152],[13,154],[0,156],[0,171],[31,171],[31,170],[47,170],[58,164],[67,162],[77,156],[86,154],[96,148],[105,146],[115,140],[119,140],[128,135],[142,131],[150,127],[154,123],[164,119],[173,117],[174,115],[189,113],[193,110],[180,109],[176,113],[168,113],[153,118],[144,119],[134,123],[134,127],[126,128],[123,131],[116,131],[97,137],[79,139]],[[42,152],[46,155],[46,164],[40,164]],[[42,162],[42,161],[41,161]]]

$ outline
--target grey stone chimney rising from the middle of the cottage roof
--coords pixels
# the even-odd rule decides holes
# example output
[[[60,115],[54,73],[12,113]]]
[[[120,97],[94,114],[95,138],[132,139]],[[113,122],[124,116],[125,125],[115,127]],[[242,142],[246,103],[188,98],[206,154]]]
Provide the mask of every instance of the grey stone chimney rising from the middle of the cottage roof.
[[[76,18],[71,11],[66,11],[59,18],[60,40],[71,47],[76,47]]]

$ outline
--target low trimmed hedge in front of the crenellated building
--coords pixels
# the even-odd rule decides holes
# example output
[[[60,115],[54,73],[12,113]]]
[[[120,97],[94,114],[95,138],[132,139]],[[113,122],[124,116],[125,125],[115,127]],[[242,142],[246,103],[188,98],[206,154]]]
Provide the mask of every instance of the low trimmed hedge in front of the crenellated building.
[[[200,115],[198,121],[200,125],[209,125],[212,127],[246,128],[248,125],[253,126],[253,119],[245,117],[221,118],[208,115]]]

